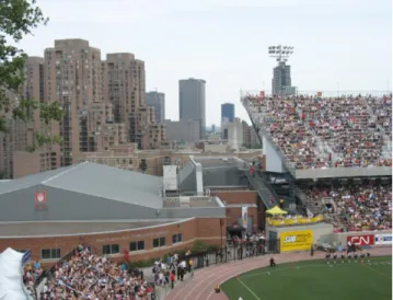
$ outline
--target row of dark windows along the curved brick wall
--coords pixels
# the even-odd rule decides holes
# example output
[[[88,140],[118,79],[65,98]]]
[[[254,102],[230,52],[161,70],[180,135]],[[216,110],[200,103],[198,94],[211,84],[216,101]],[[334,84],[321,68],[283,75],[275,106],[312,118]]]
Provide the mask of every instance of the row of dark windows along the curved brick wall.
[[[172,243],[181,243],[183,242],[183,234],[177,233],[172,235]],[[166,239],[163,238],[157,238],[153,239],[153,247],[161,247],[166,245]],[[129,243],[129,251],[141,251],[145,250],[145,241],[136,241]],[[25,250],[20,250],[21,253],[24,253]],[[118,254],[120,253],[120,246],[118,244],[112,244],[112,245],[103,245],[102,253],[105,254]],[[61,250],[59,247],[55,249],[43,249],[41,251],[41,258],[42,259],[59,259],[61,258]]]

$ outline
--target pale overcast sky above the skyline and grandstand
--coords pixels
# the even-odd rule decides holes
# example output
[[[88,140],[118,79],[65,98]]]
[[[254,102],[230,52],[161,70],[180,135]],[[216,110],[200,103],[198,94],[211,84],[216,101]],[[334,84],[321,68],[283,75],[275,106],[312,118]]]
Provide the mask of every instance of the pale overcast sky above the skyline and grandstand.
[[[84,38],[107,53],[146,61],[148,91],[166,95],[178,118],[178,80],[205,79],[207,124],[240,90],[270,90],[269,45],[294,46],[289,59],[300,91],[385,91],[392,80],[391,0],[38,0],[50,18],[25,38],[43,56],[54,39]],[[247,119],[248,122],[248,119]]]

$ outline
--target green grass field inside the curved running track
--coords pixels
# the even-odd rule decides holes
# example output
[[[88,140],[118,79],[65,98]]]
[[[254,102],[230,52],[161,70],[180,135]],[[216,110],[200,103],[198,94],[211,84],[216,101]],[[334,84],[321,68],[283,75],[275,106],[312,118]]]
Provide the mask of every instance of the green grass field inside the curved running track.
[[[391,300],[392,257],[371,263],[327,265],[326,261],[264,267],[222,284],[229,299],[239,300]]]

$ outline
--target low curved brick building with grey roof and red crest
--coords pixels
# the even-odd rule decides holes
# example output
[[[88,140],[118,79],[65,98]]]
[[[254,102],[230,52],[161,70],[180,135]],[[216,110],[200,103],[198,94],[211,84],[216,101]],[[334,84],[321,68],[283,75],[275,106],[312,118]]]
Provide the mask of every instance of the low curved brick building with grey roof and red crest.
[[[218,197],[164,198],[160,177],[89,162],[1,183],[0,219],[0,252],[30,249],[48,264],[81,240],[134,259],[220,245],[227,227]]]

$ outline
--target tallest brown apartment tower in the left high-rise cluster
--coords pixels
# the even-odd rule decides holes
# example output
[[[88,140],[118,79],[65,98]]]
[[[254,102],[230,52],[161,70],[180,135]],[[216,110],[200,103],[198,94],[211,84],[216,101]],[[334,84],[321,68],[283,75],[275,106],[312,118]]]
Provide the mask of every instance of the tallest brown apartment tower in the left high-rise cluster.
[[[45,101],[58,102],[66,113],[59,125],[60,165],[70,165],[80,152],[95,148],[96,135],[89,127],[94,120],[85,116],[90,105],[103,101],[101,50],[84,39],[55,41],[54,48],[45,49],[44,74]]]

